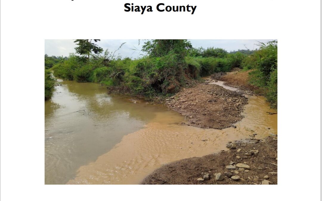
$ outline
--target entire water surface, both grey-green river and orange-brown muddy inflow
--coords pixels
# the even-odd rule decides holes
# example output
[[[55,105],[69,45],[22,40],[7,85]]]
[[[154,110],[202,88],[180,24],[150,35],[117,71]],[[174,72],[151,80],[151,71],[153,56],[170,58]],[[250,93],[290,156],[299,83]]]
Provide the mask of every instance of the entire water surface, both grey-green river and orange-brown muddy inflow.
[[[247,96],[237,128],[200,129],[163,105],[134,104],[98,84],[60,84],[45,101],[45,184],[139,184],[163,164],[226,150],[252,133],[277,134],[277,115],[266,113],[276,111],[261,96]]]

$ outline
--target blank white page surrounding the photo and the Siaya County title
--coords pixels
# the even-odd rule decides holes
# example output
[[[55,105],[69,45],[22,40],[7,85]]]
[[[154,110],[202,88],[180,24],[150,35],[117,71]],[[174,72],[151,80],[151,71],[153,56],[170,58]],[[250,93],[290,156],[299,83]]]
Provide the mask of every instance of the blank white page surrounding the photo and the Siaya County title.
[[[319,200],[320,1],[1,1],[1,200]],[[44,185],[44,39],[278,39],[278,185]]]

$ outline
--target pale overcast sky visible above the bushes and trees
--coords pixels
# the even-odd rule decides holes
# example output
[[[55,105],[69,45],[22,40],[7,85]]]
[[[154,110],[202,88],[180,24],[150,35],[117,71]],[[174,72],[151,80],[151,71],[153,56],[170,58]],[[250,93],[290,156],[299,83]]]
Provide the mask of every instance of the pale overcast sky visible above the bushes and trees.
[[[246,49],[245,46],[250,50],[255,50],[258,48],[257,41],[267,42],[270,40],[190,40],[191,44],[194,48],[207,48],[207,47],[215,47],[215,48],[223,48],[228,52],[238,49]],[[119,49],[115,55],[120,55],[122,58],[132,57],[137,58],[140,57],[140,54],[144,54],[140,52],[142,48],[142,44],[144,41],[140,40],[101,40],[97,42],[97,44],[104,49],[109,49],[109,51],[115,51],[118,47],[126,42],[121,49]],[[76,43],[74,40],[45,40],[45,54],[48,56],[68,56],[69,53],[75,53]],[[138,49],[137,51],[131,49]]]

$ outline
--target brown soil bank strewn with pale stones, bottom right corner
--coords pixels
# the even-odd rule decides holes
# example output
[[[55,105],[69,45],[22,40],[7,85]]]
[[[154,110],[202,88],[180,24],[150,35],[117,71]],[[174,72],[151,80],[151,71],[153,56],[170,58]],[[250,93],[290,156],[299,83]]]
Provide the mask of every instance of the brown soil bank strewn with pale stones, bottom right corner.
[[[260,141],[250,138],[230,144],[233,143],[236,149],[166,164],[147,176],[142,184],[262,184],[264,180],[266,184],[277,184],[277,137]],[[247,152],[253,154],[245,155]],[[230,164],[236,169],[227,169]],[[239,169],[241,164],[246,167]],[[222,174],[222,180],[216,180],[217,173]],[[236,176],[239,179],[233,180]]]

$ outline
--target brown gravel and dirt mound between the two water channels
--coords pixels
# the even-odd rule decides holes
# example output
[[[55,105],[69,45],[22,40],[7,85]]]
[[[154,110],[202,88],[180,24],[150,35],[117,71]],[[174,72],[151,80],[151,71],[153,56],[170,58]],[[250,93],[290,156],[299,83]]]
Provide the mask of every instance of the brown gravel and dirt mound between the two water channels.
[[[208,84],[208,83],[207,83]],[[242,119],[247,98],[217,85],[198,84],[183,89],[169,99],[166,106],[185,115],[188,125],[223,129]]]

